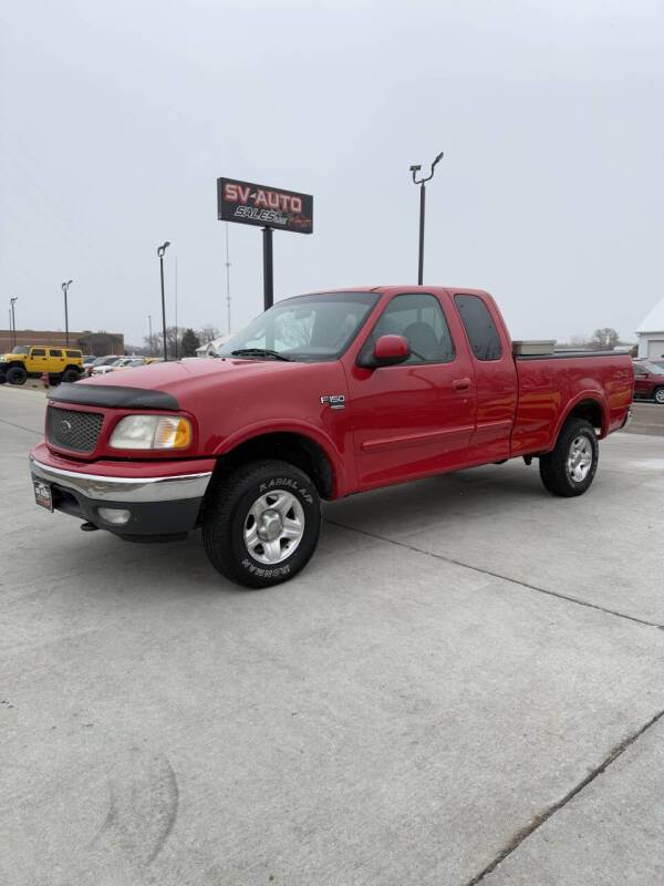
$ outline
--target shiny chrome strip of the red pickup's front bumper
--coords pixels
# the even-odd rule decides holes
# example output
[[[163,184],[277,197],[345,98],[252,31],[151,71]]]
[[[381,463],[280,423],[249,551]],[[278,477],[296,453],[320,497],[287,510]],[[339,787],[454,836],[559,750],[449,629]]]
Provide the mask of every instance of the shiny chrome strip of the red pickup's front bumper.
[[[177,502],[187,498],[203,498],[211,472],[204,474],[181,474],[173,477],[108,477],[95,474],[79,474],[50,467],[30,456],[30,470],[33,476],[46,483],[55,483],[63,488],[81,493],[87,498],[98,502]]]

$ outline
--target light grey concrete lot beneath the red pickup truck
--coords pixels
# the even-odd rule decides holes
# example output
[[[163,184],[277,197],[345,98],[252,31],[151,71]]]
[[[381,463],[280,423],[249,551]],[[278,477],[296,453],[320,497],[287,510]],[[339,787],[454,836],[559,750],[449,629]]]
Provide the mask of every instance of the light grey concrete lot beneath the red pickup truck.
[[[43,410],[0,388],[1,883],[664,882],[661,436],[577,499],[513,462],[329,505],[248,591],[38,509]]]

